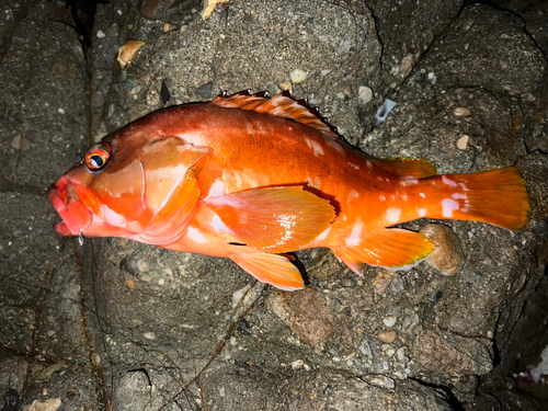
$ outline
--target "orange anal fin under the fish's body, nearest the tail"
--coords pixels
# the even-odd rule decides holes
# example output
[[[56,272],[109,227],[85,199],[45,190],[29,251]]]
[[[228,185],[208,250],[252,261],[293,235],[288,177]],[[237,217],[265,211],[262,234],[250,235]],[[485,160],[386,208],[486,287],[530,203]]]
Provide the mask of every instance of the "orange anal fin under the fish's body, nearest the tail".
[[[386,228],[364,236],[356,246],[342,246],[333,253],[352,271],[362,274],[363,264],[408,269],[426,258],[434,244],[420,232]]]

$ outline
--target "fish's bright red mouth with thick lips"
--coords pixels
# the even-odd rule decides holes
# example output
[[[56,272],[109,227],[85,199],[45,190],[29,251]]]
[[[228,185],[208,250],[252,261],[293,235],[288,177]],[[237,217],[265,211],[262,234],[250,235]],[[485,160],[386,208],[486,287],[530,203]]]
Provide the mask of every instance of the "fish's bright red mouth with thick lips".
[[[59,236],[78,236],[92,221],[92,214],[80,201],[73,190],[76,183],[61,176],[57,183],[47,189],[47,196],[62,221],[54,224],[54,230]]]

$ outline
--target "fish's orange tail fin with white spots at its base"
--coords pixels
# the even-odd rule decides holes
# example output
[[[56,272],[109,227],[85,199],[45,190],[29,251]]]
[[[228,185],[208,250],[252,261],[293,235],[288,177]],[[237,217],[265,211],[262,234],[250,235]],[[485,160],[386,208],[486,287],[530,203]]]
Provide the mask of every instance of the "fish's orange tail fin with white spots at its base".
[[[483,221],[510,230],[520,230],[529,220],[527,184],[514,167],[424,180],[441,189],[438,204],[427,217]]]

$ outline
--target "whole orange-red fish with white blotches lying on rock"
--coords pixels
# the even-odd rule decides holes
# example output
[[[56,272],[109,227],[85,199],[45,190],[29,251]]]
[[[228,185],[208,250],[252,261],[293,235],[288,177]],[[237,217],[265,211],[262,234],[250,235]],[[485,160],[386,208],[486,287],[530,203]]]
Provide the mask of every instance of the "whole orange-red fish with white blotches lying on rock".
[[[408,267],[434,246],[391,226],[427,217],[517,230],[529,213],[515,168],[437,175],[426,160],[376,159],[288,93],[150,114],[93,146],[48,195],[60,236],[228,256],[287,290],[304,287],[290,251],[327,247],[357,274]]]

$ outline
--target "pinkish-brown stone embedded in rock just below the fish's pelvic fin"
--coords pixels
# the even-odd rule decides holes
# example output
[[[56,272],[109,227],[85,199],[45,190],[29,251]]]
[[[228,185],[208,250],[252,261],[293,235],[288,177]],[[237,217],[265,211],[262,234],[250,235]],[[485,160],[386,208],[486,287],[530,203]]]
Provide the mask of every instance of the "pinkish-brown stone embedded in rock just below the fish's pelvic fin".
[[[313,287],[299,293],[275,292],[269,306],[293,331],[310,343],[324,341],[333,331],[333,317]]]

